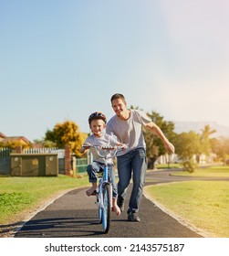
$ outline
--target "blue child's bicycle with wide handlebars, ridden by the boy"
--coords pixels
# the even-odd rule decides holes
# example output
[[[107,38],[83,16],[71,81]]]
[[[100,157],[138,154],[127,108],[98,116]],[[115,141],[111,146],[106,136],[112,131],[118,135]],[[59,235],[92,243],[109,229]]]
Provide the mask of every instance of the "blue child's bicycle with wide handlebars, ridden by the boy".
[[[104,232],[108,233],[112,209],[112,185],[108,176],[108,160],[113,158],[117,154],[117,151],[122,147],[88,144],[85,146],[94,147],[97,150],[98,155],[105,160],[103,171],[96,174],[99,180],[99,187],[96,193],[96,205],[98,206],[99,223],[102,223]]]

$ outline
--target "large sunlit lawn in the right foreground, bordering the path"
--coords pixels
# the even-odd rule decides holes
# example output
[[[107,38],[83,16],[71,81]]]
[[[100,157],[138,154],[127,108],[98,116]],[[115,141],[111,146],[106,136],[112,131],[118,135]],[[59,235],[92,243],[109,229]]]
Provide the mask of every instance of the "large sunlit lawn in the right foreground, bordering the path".
[[[229,182],[187,181],[145,187],[145,191],[195,227],[229,237]]]

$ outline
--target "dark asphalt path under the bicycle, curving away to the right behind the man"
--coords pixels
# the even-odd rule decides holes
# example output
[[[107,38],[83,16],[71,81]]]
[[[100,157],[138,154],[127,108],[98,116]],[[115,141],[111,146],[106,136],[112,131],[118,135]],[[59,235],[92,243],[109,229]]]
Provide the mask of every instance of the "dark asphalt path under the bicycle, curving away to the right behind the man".
[[[182,181],[187,177],[170,176],[171,171],[148,171],[146,186]],[[189,178],[192,179],[192,178]],[[194,179],[194,178],[193,178]],[[196,178],[195,178],[196,179]],[[129,194],[130,194],[129,188]],[[141,222],[127,221],[123,212],[112,213],[111,227],[104,234],[98,222],[95,197],[87,197],[84,189],[75,189],[57,198],[16,232],[16,238],[197,238],[202,235],[183,226],[146,197],[142,197]],[[129,199],[128,195],[128,198]],[[128,201],[128,200],[126,200]]]

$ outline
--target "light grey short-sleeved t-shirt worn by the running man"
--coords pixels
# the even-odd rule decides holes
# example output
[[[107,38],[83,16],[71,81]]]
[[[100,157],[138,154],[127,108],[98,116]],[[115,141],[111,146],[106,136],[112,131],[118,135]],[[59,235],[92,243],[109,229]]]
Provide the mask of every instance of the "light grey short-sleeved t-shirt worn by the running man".
[[[151,123],[151,118],[140,110],[130,110],[130,118],[127,121],[120,120],[117,115],[110,118],[106,133],[115,135],[120,143],[129,145],[128,150],[120,151],[117,155],[124,155],[135,148],[145,148],[142,125],[147,123]]]

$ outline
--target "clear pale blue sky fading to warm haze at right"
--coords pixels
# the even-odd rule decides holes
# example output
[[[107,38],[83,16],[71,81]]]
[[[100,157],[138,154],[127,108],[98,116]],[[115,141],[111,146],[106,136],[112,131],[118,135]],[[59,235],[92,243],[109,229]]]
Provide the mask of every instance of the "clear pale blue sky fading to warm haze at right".
[[[0,0],[0,132],[42,139],[114,112],[229,126],[227,0]]]

